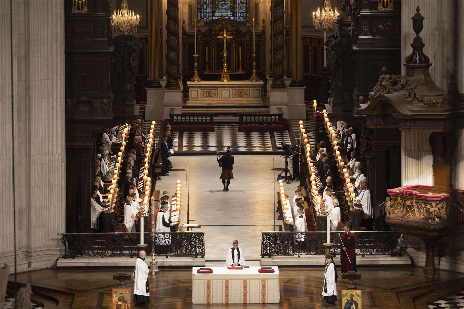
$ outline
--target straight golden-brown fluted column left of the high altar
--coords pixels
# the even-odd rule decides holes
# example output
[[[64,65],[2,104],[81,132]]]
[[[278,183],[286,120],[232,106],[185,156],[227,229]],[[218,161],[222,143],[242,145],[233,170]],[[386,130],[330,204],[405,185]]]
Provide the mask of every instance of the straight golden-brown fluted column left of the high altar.
[[[161,1],[148,0],[148,88],[161,88]]]

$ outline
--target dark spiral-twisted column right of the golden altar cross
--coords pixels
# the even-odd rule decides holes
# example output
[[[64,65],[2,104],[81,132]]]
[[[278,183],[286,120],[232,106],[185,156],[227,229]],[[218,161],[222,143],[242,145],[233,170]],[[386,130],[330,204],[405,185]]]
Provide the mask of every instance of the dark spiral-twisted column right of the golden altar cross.
[[[273,18],[272,23],[274,25],[274,32],[272,33],[274,39],[273,53],[274,60],[272,66],[274,68],[274,75],[272,76],[271,88],[285,88],[284,75],[284,60],[285,60],[285,25],[284,25],[284,0],[274,0],[272,4]]]

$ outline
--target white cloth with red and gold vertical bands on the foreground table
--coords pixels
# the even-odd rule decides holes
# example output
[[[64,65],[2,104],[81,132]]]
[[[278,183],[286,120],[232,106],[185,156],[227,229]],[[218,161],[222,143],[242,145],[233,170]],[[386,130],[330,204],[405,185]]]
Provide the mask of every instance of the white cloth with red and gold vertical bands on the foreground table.
[[[207,267],[207,266],[206,266]],[[273,273],[258,272],[260,267],[244,269],[211,267],[212,274],[198,274],[192,268],[193,303],[279,303],[279,269]]]

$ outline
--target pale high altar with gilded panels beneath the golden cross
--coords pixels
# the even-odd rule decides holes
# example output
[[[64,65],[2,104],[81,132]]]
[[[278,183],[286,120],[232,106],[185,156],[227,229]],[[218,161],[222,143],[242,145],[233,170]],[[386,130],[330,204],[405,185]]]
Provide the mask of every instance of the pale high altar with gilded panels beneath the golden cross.
[[[263,81],[189,81],[186,106],[265,106],[263,85]]]

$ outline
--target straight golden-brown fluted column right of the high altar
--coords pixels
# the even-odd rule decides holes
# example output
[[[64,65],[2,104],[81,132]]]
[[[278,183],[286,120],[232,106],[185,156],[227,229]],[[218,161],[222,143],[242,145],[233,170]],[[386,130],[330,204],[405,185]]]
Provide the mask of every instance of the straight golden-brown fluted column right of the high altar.
[[[301,47],[301,1],[293,0],[290,2],[290,87],[303,87]]]

